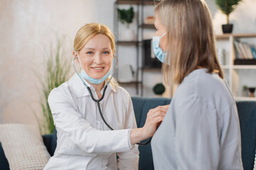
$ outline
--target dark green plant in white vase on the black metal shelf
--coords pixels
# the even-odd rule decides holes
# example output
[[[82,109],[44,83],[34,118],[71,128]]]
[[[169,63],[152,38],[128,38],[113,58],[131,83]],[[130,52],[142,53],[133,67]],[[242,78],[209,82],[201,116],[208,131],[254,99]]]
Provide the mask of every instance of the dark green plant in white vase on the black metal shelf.
[[[120,9],[117,8],[118,11],[118,19],[119,21],[124,24],[127,28],[125,30],[124,40],[132,41],[135,39],[134,30],[129,28],[129,25],[132,23],[134,18],[134,8],[131,6],[129,9]]]

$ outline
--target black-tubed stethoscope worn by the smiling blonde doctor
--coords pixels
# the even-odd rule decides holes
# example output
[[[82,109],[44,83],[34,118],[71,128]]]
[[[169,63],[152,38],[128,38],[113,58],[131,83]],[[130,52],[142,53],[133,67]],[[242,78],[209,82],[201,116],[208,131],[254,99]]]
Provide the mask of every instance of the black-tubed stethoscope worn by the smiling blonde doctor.
[[[78,52],[77,52],[77,55],[78,55]],[[117,57],[114,56],[114,58],[117,60],[117,63],[118,63]],[[80,62],[79,55],[78,55],[78,57],[75,57],[75,58],[73,59],[72,64],[73,64],[74,69],[75,69],[75,62],[74,62],[74,61],[77,60],[77,59],[78,59],[79,62]],[[80,62],[80,67],[81,67],[81,69],[82,69],[81,62]],[[99,110],[100,117],[102,118],[102,120],[103,120],[103,122],[105,123],[105,125],[107,125],[107,128],[109,128],[110,130],[114,130],[114,129],[106,122],[104,116],[102,115],[102,111],[101,111],[101,109],[100,109],[100,101],[102,101],[102,99],[104,98],[104,96],[105,96],[105,91],[106,91],[106,89],[107,89],[107,86],[110,84],[110,81],[111,81],[111,79],[114,77],[114,74],[115,74],[116,71],[117,71],[117,64],[116,64],[116,67],[114,68],[114,73],[112,74],[112,76],[110,77],[109,81],[107,81],[107,84],[106,84],[106,85],[104,86],[104,88],[103,88],[103,93],[102,93],[101,98],[96,99],[96,98],[93,97],[93,94],[92,94],[92,91],[91,91],[90,87],[87,86],[87,84],[85,83],[85,80],[82,79],[82,77],[80,76],[80,74],[79,74],[79,72],[77,71],[77,69],[75,69],[75,73],[78,75],[78,77],[81,79],[82,83],[85,85],[85,87],[86,87],[87,90],[89,91],[90,97],[92,98],[92,101],[95,101],[95,102],[97,103],[97,108],[98,108],[98,110]],[[144,143],[139,142],[139,143],[137,143],[137,145],[147,145],[147,144],[149,144],[150,141],[151,141],[151,137],[150,137],[149,140],[147,140],[146,142],[144,142]]]

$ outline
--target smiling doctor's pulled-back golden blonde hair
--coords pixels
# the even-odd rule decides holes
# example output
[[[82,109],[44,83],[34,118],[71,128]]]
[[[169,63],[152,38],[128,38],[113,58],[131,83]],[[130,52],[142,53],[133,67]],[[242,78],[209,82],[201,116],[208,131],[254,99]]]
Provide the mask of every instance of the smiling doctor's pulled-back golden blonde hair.
[[[82,26],[79,30],[78,33],[75,35],[75,40],[74,40],[74,50],[76,52],[79,52],[82,50],[82,47],[85,46],[85,44],[93,38],[95,35],[102,34],[106,35],[108,38],[110,38],[110,43],[112,47],[112,52],[114,55],[115,52],[115,43],[114,43],[114,35],[111,32],[109,28],[105,25],[101,25],[99,23],[87,23],[85,26]],[[114,57],[114,56],[113,56]],[[110,75],[111,77],[111,75]],[[107,80],[110,79],[110,77],[107,78]],[[112,78],[110,81],[112,85],[118,85],[117,81]]]

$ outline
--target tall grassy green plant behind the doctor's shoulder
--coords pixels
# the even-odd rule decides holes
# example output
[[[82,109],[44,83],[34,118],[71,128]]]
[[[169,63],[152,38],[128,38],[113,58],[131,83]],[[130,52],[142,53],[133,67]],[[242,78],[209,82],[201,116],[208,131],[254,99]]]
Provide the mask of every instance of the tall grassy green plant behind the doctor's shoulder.
[[[70,77],[70,59],[65,55],[66,52],[63,43],[64,40],[58,38],[56,44],[50,44],[50,47],[46,52],[47,60],[44,70],[45,77],[40,77],[35,71],[37,77],[40,78],[39,81],[41,86],[38,90],[41,96],[40,106],[43,120],[40,120],[36,113],[35,115],[42,134],[53,133],[55,130],[53,115],[48,104],[50,91],[55,87],[60,86],[60,84],[63,84],[65,81],[68,81]]]

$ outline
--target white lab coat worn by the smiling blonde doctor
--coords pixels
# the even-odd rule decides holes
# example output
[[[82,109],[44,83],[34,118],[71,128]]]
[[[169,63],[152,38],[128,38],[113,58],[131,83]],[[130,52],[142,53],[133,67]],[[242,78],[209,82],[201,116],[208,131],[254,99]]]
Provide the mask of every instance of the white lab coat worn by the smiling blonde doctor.
[[[94,88],[90,89],[97,98]],[[53,89],[48,102],[58,140],[45,170],[138,169],[138,147],[129,141],[130,130],[137,125],[132,100],[122,87],[108,85],[100,101],[102,114],[113,131],[103,123],[97,103],[76,74]]]

